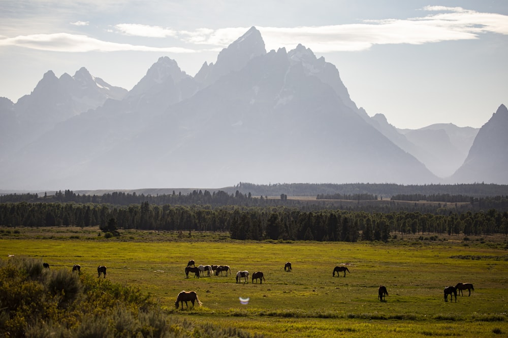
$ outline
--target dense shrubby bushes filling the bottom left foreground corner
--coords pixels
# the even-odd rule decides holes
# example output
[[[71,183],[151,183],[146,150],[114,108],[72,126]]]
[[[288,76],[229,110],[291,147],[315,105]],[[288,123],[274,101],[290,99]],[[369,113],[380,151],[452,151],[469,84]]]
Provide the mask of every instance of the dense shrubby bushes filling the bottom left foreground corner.
[[[42,261],[0,259],[0,336],[250,337],[212,324],[168,316],[139,288],[120,286]]]

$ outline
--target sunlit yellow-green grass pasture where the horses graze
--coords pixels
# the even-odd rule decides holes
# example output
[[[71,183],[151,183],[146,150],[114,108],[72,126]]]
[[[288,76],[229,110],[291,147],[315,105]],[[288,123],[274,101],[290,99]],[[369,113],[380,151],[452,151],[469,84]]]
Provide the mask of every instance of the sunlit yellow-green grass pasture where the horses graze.
[[[160,301],[168,316],[268,337],[508,333],[508,253],[502,236],[345,243],[233,241],[220,233],[196,232],[179,238],[147,231],[105,239],[98,233],[17,228],[16,234],[4,232],[0,238],[0,257],[34,257],[48,262],[50,269],[80,264],[82,274],[94,278],[97,267],[105,265],[108,280],[139,286]],[[229,265],[233,274],[186,279],[189,259],[197,265]],[[292,262],[291,272],[284,271],[286,261]],[[332,277],[333,268],[342,264],[350,273]],[[240,270],[262,271],[266,281],[237,284]],[[471,296],[465,291],[457,302],[444,302],[444,286],[458,282],[474,285]],[[386,302],[377,299],[380,284],[388,289]],[[192,308],[189,303],[188,310],[176,310],[181,290],[196,291],[203,305]],[[239,297],[249,298],[248,304]]]

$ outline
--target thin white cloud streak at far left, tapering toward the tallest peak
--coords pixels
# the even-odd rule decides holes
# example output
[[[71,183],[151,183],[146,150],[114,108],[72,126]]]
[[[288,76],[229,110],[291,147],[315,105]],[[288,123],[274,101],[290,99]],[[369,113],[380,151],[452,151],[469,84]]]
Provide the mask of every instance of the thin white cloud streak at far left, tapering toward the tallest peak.
[[[148,47],[130,44],[106,42],[86,35],[68,33],[20,35],[0,39],[1,46],[19,46],[54,52],[116,52],[116,51],[147,51],[169,53],[194,53],[195,50],[179,47]]]

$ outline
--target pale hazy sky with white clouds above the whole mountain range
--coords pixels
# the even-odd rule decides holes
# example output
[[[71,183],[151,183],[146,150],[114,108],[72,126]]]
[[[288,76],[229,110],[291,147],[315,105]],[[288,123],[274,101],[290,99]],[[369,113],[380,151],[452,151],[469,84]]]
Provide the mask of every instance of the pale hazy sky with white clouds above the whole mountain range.
[[[0,0],[0,96],[83,66],[130,90],[161,56],[194,76],[251,26],[267,51],[324,56],[398,128],[479,128],[508,104],[506,0]]]

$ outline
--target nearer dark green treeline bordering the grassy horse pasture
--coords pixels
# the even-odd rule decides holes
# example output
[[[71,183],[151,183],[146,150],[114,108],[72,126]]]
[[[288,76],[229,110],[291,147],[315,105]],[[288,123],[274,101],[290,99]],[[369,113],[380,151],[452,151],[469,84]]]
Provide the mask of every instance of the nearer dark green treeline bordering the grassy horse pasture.
[[[507,234],[508,212],[365,212],[301,210],[290,207],[209,205],[129,206],[76,203],[3,203],[0,226],[95,227],[108,229],[114,219],[121,229],[229,232],[239,240],[388,240],[391,233]]]

